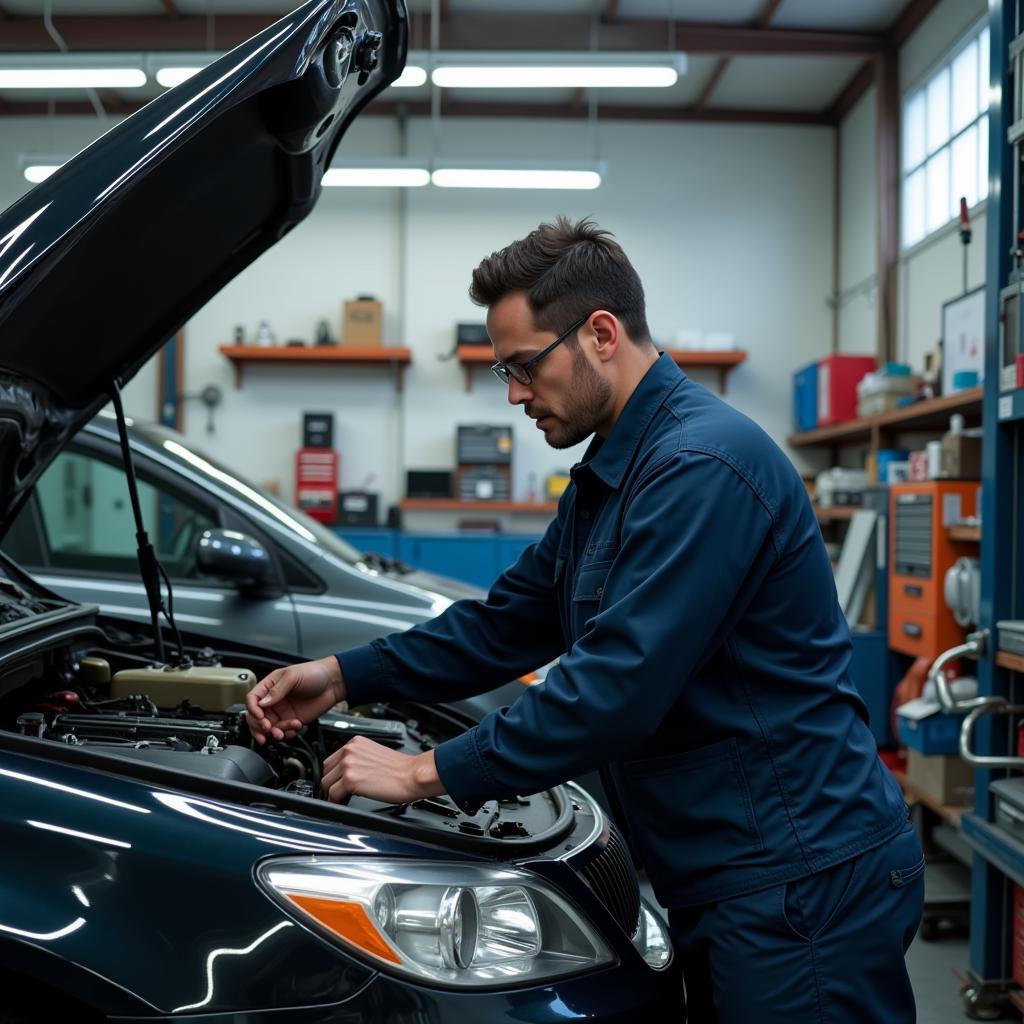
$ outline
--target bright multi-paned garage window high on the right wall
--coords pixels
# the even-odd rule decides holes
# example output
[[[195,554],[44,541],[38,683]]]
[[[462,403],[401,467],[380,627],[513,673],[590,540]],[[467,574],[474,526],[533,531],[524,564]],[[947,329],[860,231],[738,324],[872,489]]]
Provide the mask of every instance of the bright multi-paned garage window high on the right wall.
[[[988,195],[988,28],[975,29],[903,101],[904,249]]]

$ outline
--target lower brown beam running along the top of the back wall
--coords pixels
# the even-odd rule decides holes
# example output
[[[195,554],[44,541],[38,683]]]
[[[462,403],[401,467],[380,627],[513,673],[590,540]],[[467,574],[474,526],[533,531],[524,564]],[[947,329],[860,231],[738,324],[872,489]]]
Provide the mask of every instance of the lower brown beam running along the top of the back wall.
[[[105,101],[106,113],[111,115],[134,114],[144,104],[136,99],[111,98]],[[428,100],[410,102],[402,100],[375,99],[366,111],[364,117],[391,117],[399,111],[409,117],[430,117]],[[0,118],[5,117],[40,117],[51,113],[50,104],[45,100],[30,100],[14,102],[0,99]],[[58,99],[53,103],[55,115],[90,115],[94,116],[92,103],[87,99]],[[590,116],[586,106],[572,106],[568,103],[489,103],[489,102],[459,102],[446,100],[441,113],[445,118],[560,118],[569,121],[585,121]],[[759,111],[734,108],[712,108],[697,111],[692,106],[602,106],[602,121],[663,121],[683,122],[695,121],[705,123],[727,124],[787,124],[787,125],[827,125],[829,122],[821,113],[804,111]]]

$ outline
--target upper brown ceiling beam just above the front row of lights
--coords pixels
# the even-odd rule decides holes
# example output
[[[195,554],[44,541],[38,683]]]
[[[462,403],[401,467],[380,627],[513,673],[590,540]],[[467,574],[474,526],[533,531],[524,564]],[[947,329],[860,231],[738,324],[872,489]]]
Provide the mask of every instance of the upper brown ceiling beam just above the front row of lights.
[[[275,20],[270,15],[222,14],[217,17],[217,46],[244,42]],[[72,14],[54,18],[72,50],[201,50],[207,45],[205,15]],[[422,24],[420,24],[422,23]],[[457,50],[587,50],[591,47],[589,15],[460,13],[441,25],[441,48]],[[417,35],[419,31],[419,35]],[[411,15],[411,37],[429,39],[428,16]],[[607,51],[663,51],[670,36],[664,19],[623,19],[598,27],[598,46]],[[689,53],[834,54],[873,56],[885,37],[868,32],[813,29],[761,29],[751,26],[677,22],[675,40]],[[53,42],[39,17],[10,17],[0,37],[0,51],[51,50]]]

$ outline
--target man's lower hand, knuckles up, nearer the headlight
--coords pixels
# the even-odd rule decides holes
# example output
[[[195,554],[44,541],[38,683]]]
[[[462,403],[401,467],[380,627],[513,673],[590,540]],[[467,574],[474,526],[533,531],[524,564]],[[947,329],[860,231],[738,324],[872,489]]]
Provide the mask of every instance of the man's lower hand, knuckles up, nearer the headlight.
[[[366,736],[353,736],[324,762],[323,785],[336,803],[357,794],[386,804],[408,804],[445,792],[433,751],[401,754]]]

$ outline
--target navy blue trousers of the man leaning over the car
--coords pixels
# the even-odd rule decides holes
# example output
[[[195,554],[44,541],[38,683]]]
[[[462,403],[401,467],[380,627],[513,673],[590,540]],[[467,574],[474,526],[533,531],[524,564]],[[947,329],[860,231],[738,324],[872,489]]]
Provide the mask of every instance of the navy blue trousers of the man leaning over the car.
[[[670,909],[688,1024],[913,1024],[904,953],[925,899],[913,825],[796,882]]]

